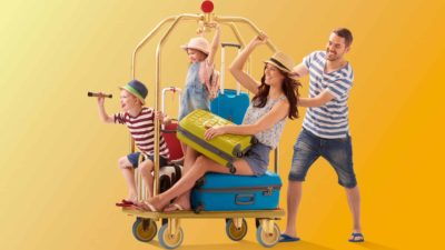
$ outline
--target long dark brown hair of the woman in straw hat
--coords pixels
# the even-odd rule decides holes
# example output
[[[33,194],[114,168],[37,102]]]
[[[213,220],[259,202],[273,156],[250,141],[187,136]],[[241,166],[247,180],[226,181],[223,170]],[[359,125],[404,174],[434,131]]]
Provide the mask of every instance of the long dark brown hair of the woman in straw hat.
[[[278,69],[278,68],[277,68]],[[266,66],[265,66],[266,70]],[[298,118],[298,99],[299,92],[298,88],[301,87],[301,83],[293,78],[289,74],[280,69],[279,72],[285,76],[285,79],[281,82],[281,90],[285,93],[287,100],[289,101],[289,113],[287,117],[289,119]],[[266,84],[266,74],[263,73],[261,84],[258,87],[258,92],[251,99],[254,107],[263,108],[266,106],[267,97],[269,96],[270,86]]]

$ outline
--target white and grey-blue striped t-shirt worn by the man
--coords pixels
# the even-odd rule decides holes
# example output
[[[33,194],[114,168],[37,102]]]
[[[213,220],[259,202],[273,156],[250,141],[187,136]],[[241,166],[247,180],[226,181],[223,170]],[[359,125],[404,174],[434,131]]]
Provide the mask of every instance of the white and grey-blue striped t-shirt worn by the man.
[[[303,59],[309,70],[309,97],[327,89],[334,99],[322,107],[308,108],[303,128],[320,138],[345,138],[349,134],[347,100],[354,72],[349,63],[339,70],[325,73],[326,52],[315,51]]]

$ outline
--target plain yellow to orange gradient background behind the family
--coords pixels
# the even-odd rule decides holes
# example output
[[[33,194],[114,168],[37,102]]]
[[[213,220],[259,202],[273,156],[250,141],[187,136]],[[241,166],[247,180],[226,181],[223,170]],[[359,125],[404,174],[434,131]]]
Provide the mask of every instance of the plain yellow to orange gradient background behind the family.
[[[117,159],[128,152],[128,133],[102,124],[96,100],[86,93],[113,93],[106,108],[118,111],[117,87],[131,79],[136,44],[166,17],[199,13],[200,2],[0,3],[0,249],[160,248],[157,238],[150,244],[136,241],[134,218],[113,206],[126,196]],[[324,49],[336,27],[350,28],[355,37],[347,56],[355,70],[350,128],[366,242],[347,242],[352,221],[344,190],[319,160],[304,186],[303,241],[275,249],[443,249],[445,2],[215,0],[215,6],[219,16],[254,21],[296,61]],[[239,27],[248,41],[253,32]],[[192,21],[182,23],[166,43],[164,86],[184,86],[188,61],[179,46],[195,29]],[[222,32],[224,41],[234,41],[227,28]],[[156,44],[138,57],[137,78],[151,90],[149,104]],[[254,54],[255,77],[268,56],[266,47]],[[308,81],[303,82],[306,96]],[[172,100],[169,110],[178,104]],[[300,111],[280,143],[284,208]],[[284,230],[285,220],[278,223]],[[248,226],[246,239],[233,242],[222,220],[185,220],[181,249],[263,249],[251,220]]]

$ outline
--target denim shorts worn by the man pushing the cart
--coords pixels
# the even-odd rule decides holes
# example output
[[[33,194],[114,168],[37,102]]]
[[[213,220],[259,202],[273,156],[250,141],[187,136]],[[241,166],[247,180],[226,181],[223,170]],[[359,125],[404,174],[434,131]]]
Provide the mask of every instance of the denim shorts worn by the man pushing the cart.
[[[353,149],[350,137],[324,139],[303,129],[294,146],[294,157],[289,172],[290,181],[304,181],[310,166],[325,158],[334,168],[338,183],[345,188],[357,186],[353,168]]]

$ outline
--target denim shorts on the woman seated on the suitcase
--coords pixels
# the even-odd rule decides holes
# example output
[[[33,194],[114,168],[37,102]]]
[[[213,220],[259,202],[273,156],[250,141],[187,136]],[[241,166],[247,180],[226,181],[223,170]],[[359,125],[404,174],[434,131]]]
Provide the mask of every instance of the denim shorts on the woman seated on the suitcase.
[[[270,147],[260,142],[255,143],[241,158],[249,164],[255,176],[263,176],[269,166]]]

